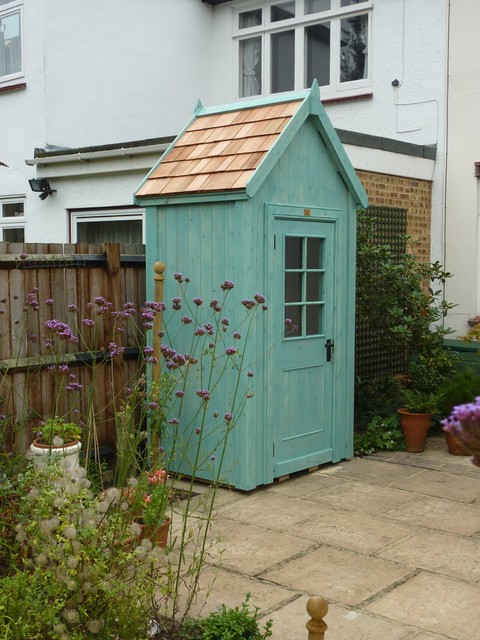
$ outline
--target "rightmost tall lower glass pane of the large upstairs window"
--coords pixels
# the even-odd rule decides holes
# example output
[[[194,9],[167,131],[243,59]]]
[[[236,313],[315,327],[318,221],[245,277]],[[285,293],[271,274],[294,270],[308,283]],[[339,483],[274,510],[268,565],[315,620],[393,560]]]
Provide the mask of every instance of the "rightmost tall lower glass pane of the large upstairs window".
[[[340,29],[340,82],[366,78],[368,16],[344,18]]]

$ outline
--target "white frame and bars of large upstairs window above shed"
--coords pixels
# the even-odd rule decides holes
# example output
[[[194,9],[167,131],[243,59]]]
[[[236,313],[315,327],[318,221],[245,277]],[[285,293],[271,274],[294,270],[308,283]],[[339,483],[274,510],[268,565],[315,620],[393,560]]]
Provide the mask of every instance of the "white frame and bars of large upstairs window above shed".
[[[254,36],[260,36],[262,42],[261,52],[261,68],[262,68],[262,86],[261,93],[258,95],[270,95],[271,89],[271,40],[273,33],[281,31],[295,31],[295,80],[294,91],[301,91],[309,87],[307,84],[307,43],[305,37],[305,28],[322,22],[330,23],[330,84],[321,85],[322,99],[345,98],[362,95],[370,92],[372,86],[372,22],[373,22],[373,0],[366,0],[361,4],[349,5],[341,7],[341,0],[331,0],[331,9],[314,14],[305,13],[305,0],[295,0],[296,11],[295,18],[282,20],[278,22],[270,21],[270,8],[272,5],[281,4],[282,0],[275,2],[270,0],[268,3],[257,2],[243,3],[242,6],[234,10],[234,26],[233,38],[236,43],[236,77],[237,92],[240,99],[248,99],[254,96],[241,95],[241,78],[240,78],[240,41]],[[254,9],[262,9],[262,24],[256,27],[239,28],[240,14]],[[358,15],[368,16],[368,67],[367,77],[360,80],[352,80],[349,82],[340,82],[340,25],[343,18],[350,18]]]

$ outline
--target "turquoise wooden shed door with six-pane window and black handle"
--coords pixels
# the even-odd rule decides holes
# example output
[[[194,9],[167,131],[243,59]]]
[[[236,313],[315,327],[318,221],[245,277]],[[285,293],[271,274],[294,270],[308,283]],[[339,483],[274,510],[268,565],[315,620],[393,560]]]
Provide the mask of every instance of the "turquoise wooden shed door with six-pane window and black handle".
[[[268,381],[274,477],[280,477],[332,459],[335,223],[276,220],[274,233],[271,266],[283,291],[275,324],[289,319],[296,326],[286,325]]]

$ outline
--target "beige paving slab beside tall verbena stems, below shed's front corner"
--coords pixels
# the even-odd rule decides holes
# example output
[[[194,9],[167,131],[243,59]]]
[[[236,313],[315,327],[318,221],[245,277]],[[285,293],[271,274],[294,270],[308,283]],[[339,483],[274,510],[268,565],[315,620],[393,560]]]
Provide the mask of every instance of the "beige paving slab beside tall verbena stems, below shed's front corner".
[[[213,536],[219,537],[222,568],[254,576],[312,546],[311,541],[278,531],[266,531],[252,524],[216,518]]]

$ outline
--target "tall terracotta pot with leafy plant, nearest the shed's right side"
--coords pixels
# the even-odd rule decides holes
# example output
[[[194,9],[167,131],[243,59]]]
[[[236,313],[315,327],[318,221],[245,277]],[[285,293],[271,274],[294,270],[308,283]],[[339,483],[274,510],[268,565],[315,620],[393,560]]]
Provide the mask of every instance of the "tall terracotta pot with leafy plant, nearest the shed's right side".
[[[402,407],[397,409],[400,426],[405,439],[406,450],[421,453],[430,428],[432,414],[438,411],[438,393],[405,389],[402,393]]]

